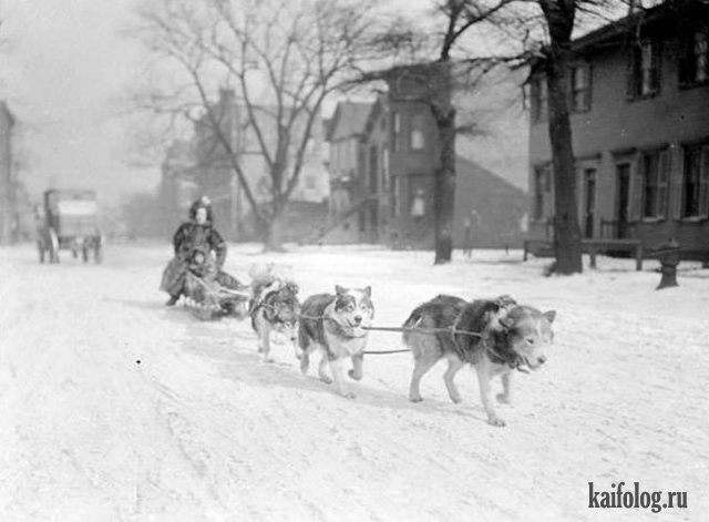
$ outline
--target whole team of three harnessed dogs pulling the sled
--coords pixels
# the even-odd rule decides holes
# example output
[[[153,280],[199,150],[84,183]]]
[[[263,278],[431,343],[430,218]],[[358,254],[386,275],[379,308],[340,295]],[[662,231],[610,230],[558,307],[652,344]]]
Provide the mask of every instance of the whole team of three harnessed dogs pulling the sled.
[[[301,304],[298,286],[276,272],[269,265],[250,273],[254,297],[249,314],[264,360],[271,360],[270,332],[279,332],[292,342],[304,375],[308,372],[310,356],[320,350],[320,380],[333,383],[338,395],[354,398],[347,389],[345,370],[350,359],[352,365],[347,375],[354,380],[363,376],[368,328],[374,317],[371,287],[336,286],[335,294],[314,295]],[[443,380],[451,400],[461,402],[454,377],[464,366],[471,365],[477,372],[487,421],[504,426],[495,413],[491,379],[501,376],[503,392],[496,399],[510,402],[513,371],[528,372],[546,360],[545,349],[554,338],[554,317],[555,311],[541,313],[531,306],[518,305],[510,296],[466,301],[439,295],[419,305],[402,328],[403,341],[414,359],[410,400],[422,400],[421,378],[439,360],[446,359]]]

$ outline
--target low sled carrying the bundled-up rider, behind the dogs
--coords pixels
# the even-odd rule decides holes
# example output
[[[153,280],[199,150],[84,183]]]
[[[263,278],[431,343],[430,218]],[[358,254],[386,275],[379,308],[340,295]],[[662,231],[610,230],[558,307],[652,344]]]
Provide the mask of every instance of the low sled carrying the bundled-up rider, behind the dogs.
[[[238,289],[227,288],[187,272],[185,297],[187,308],[199,320],[216,320],[222,317],[243,319],[248,315],[251,293],[245,285]]]

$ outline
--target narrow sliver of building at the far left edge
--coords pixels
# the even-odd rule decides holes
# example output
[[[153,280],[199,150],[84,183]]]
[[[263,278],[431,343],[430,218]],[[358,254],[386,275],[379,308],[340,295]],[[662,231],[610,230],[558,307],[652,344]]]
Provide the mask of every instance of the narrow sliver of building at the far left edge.
[[[18,213],[17,180],[12,136],[14,116],[8,104],[0,101],[0,244],[18,239],[20,217]]]

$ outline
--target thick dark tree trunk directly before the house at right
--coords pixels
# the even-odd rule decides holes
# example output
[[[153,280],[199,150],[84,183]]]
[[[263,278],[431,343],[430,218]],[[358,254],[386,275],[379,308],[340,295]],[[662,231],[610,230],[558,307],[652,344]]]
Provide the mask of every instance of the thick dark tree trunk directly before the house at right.
[[[544,6],[545,4],[545,6]],[[543,2],[552,37],[546,60],[549,140],[554,172],[555,212],[554,247],[557,274],[583,272],[580,228],[576,202],[576,173],[572,127],[568,114],[568,60],[571,31],[574,27],[573,0]]]

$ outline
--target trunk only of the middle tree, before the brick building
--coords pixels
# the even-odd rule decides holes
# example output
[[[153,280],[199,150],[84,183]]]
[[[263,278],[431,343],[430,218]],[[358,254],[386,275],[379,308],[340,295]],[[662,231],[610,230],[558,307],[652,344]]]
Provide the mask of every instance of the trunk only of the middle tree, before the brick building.
[[[440,165],[433,185],[434,265],[450,263],[453,254],[453,204],[455,202],[455,109],[451,100],[450,64],[441,68],[442,88],[433,105],[439,131]]]

